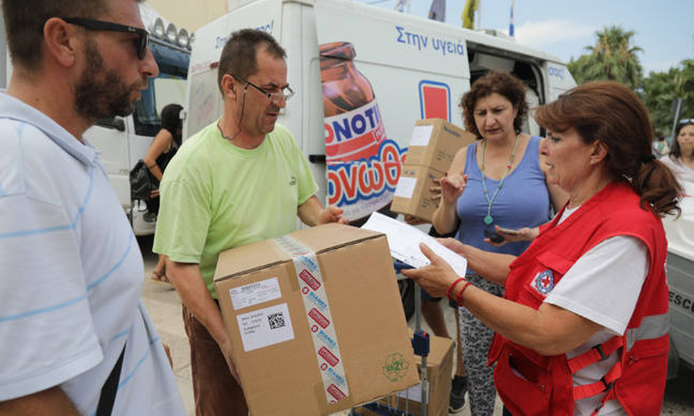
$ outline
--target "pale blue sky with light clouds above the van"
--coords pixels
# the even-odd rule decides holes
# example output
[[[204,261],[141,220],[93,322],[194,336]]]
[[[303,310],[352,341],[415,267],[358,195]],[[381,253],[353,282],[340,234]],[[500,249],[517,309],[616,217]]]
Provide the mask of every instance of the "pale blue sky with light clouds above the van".
[[[396,0],[357,0],[393,9]],[[446,22],[462,26],[466,0],[446,0]],[[587,53],[595,31],[618,25],[634,31],[633,45],[645,76],[694,59],[694,0],[516,0],[516,42],[557,56],[564,62]],[[511,0],[480,0],[476,28],[508,33]],[[431,0],[410,0],[409,14],[427,17]]]

